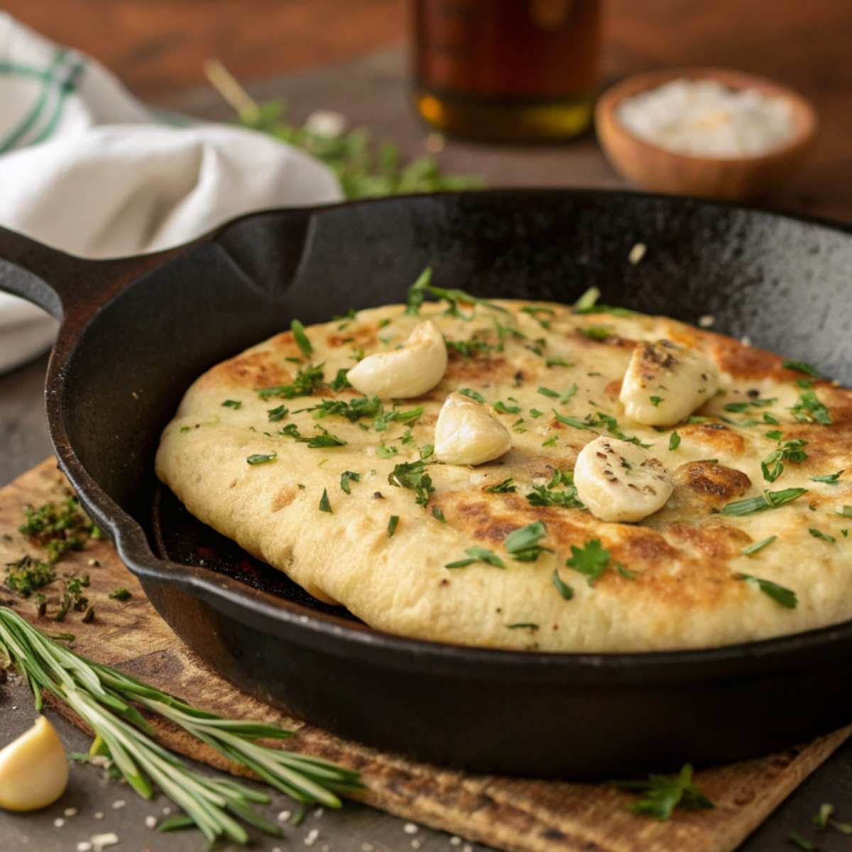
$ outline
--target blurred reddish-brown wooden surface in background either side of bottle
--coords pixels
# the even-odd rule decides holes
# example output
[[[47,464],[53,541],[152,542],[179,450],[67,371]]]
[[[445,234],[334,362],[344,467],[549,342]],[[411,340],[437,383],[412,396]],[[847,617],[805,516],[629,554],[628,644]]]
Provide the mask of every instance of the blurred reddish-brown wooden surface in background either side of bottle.
[[[788,210],[852,218],[849,0],[603,0],[606,80],[671,65],[731,66],[813,99],[820,136]],[[171,100],[216,56],[278,77],[406,40],[405,0],[5,0],[46,36],[94,55],[137,95]]]

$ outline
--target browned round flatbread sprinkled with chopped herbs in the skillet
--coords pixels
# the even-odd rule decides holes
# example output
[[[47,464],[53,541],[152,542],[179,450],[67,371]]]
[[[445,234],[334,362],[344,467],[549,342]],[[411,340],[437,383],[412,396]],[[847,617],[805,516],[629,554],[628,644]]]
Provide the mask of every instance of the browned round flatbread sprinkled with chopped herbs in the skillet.
[[[322,365],[325,383],[294,399],[258,393],[298,382],[300,370],[303,380],[308,358],[292,332],[248,349],[187,391],[163,433],[158,476],[193,515],[312,595],[403,636],[491,648],[647,651],[746,642],[852,617],[852,540],[846,532],[852,517],[838,514],[852,504],[849,390],[786,369],[774,354],[674,320],[575,314],[540,302],[497,304],[508,313],[462,305],[465,315],[474,314],[462,319],[446,313],[446,302],[431,302],[419,316],[390,305],[309,327],[309,362]],[[422,406],[415,422],[386,417],[378,430],[374,417],[350,422],[302,411],[359,399],[353,389],[336,391],[329,383],[362,354],[405,341],[425,318],[450,342],[450,360],[435,390],[396,406],[403,415]],[[631,423],[619,403],[636,342],[659,338],[703,350],[722,374],[719,394],[675,429]],[[803,387],[811,381],[812,388]],[[481,394],[489,405],[504,404],[498,417],[514,446],[475,469],[427,458],[434,492],[423,506],[418,492],[389,484],[389,475],[394,466],[420,458],[420,448],[434,440],[443,400],[459,389]],[[803,394],[810,408],[803,407]],[[268,412],[282,404],[289,412],[273,420],[281,412]],[[796,418],[798,412],[825,420],[819,406],[830,412],[830,424]],[[385,414],[393,409],[385,400]],[[589,428],[557,420],[554,410]],[[291,435],[279,434],[282,428]],[[322,435],[320,429],[345,446],[314,448],[292,436]],[[783,460],[783,474],[769,482],[761,461],[778,446],[766,436],[774,430],[785,441],[807,441],[807,458]],[[670,449],[675,431],[680,443]],[[554,471],[570,472],[579,450],[598,434],[651,445],[648,452],[675,481],[664,509],[641,523],[621,524],[598,521],[584,509],[530,502],[534,487],[548,493]],[[246,461],[273,454],[265,463]],[[849,473],[833,483],[811,479],[841,469]],[[350,493],[341,486],[345,471],[360,476],[348,481]],[[509,478],[514,491],[488,490]],[[807,493],[754,514],[720,514],[765,488]],[[551,491],[564,495],[571,488],[560,484]],[[394,516],[399,521],[391,537]],[[544,521],[540,544],[553,552],[515,561],[504,539],[534,521]],[[743,554],[770,537],[771,544]],[[589,544],[595,541],[601,546]],[[505,567],[486,561],[446,567],[469,558],[465,551],[472,547],[492,551]],[[593,584],[566,565],[572,547],[583,550],[592,569],[605,563]],[[584,556],[575,563],[582,566]]]

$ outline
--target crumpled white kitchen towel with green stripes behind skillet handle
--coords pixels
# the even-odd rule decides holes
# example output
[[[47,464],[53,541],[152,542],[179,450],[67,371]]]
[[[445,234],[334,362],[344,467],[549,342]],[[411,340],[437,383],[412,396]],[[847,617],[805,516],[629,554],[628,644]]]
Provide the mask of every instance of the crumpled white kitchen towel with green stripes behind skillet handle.
[[[83,257],[181,245],[251,210],[342,199],[337,178],[273,138],[165,124],[95,60],[0,12],[0,226]],[[55,321],[0,293],[0,372]]]

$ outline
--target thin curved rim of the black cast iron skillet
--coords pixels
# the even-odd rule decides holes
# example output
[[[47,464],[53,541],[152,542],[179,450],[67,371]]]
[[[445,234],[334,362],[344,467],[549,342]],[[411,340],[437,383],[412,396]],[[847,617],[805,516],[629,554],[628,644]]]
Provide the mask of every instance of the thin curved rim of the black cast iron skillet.
[[[762,216],[772,216],[806,225],[815,225],[843,233],[847,237],[852,234],[852,224],[835,222],[826,217],[797,216],[774,210],[761,209],[747,204],[732,204],[712,199],[698,199],[691,196],[665,195],[662,193],[641,193],[630,190],[607,190],[596,188],[558,188],[558,187],[517,187],[508,189],[487,189],[466,191],[463,193],[428,193],[412,194],[409,196],[392,196],[388,199],[360,199],[341,204],[326,204],[318,207],[288,208],[288,212],[305,212],[308,214],[322,213],[325,210],[339,210],[343,207],[360,207],[368,204],[399,203],[401,199],[440,198],[442,196],[458,195],[568,195],[579,198],[606,195],[613,199],[651,199],[667,204],[700,204],[724,210],[741,210],[746,213],[756,213]],[[216,236],[237,222],[242,222],[252,216],[264,216],[281,212],[279,208],[257,210],[239,216],[221,227],[217,227],[201,239],[216,239]],[[120,298],[118,292],[114,298]],[[83,329],[88,321],[83,325]],[[79,329],[78,331],[83,331]],[[243,623],[246,619],[262,619],[264,627],[278,627],[286,630],[298,642],[296,634],[302,634],[302,643],[309,641],[310,636],[318,638],[326,644],[336,646],[337,653],[359,655],[358,652],[387,653],[389,656],[403,659],[417,659],[417,664],[428,666],[429,669],[450,665],[455,668],[458,664],[465,665],[465,674],[488,677],[498,672],[514,673],[523,671],[527,676],[549,674],[562,676],[566,674],[593,675],[600,672],[607,681],[624,685],[634,679],[643,682],[652,676],[654,681],[670,680],[676,677],[684,679],[703,679],[717,666],[730,666],[740,662],[742,672],[757,671],[764,666],[774,669],[779,666],[793,667],[811,665],[813,654],[820,649],[830,651],[839,642],[852,642],[852,619],[837,625],[805,630],[786,636],[777,636],[756,642],[739,642],[717,648],[698,648],[685,650],[639,651],[639,652],[610,652],[610,653],[579,653],[579,652],[542,652],[542,651],[512,651],[501,648],[479,648],[446,642],[416,639],[397,636],[376,630],[367,625],[360,625],[340,619],[339,617],[319,613],[311,607],[283,601],[268,592],[255,590],[247,584],[239,582],[222,574],[211,572],[204,567],[187,566],[182,563],[161,559],[153,552],[141,525],[133,517],[120,509],[106,492],[89,476],[88,471],[74,452],[67,440],[64,428],[62,408],[64,386],[62,374],[67,360],[73,357],[77,344],[77,335],[63,340],[60,331],[60,344],[66,343],[62,363],[58,363],[56,354],[60,345],[51,355],[45,393],[51,438],[53,440],[60,466],[66,472],[75,490],[85,504],[96,507],[96,520],[106,526],[112,533],[118,555],[121,556],[132,573],[142,581],[153,581],[164,584],[178,584],[193,594],[203,597],[215,607],[224,607],[232,617],[237,617]],[[255,620],[254,626],[260,626]],[[266,630],[274,632],[274,630]],[[762,664],[762,665],[758,665]],[[458,670],[457,670],[458,671]],[[477,675],[476,672],[480,674]],[[612,681],[613,675],[619,672],[625,678]],[[728,671],[728,674],[731,672]],[[635,675],[632,677],[630,675]],[[538,678],[536,678],[538,679]],[[593,678],[594,679],[594,678]]]

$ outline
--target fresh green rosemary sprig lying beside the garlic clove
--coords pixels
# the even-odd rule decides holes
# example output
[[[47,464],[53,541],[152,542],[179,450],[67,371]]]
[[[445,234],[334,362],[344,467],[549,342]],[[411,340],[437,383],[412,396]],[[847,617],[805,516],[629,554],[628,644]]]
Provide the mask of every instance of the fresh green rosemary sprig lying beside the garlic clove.
[[[140,706],[183,728],[298,802],[339,808],[341,801],[336,794],[360,786],[357,772],[256,742],[282,740],[292,735],[290,731],[262,722],[223,719],[199,710],[70,651],[9,607],[0,607],[0,661],[4,659],[26,677],[37,711],[42,709],[44,691],[70,707],[95,732],[93,748],[112,760],[135,792],[151,798],[159,788],[211,842],[225,836],[236,843],[247,843],[249,836],[240,821],[279,834],[278,826],[251,808],[253,803],[268,803],[268,795],[231,779],[189,769],[154,740],[153,728],[142,716]]]

